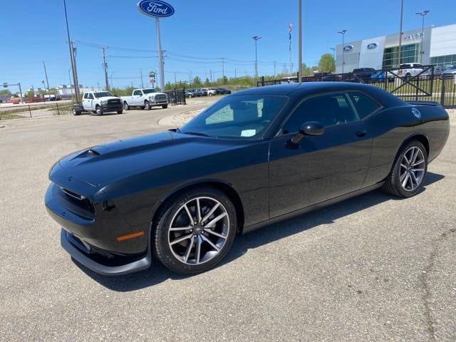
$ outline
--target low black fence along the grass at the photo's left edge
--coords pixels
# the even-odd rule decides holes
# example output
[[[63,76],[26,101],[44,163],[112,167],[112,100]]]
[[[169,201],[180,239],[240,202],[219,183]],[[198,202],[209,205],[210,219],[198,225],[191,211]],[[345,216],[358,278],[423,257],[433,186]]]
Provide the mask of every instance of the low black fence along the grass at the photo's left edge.
[[[2,103],[0,105],[0,120],[66,115],[71,114],[72,108],[73,103],[70,101],[16,105],[12,103]]]

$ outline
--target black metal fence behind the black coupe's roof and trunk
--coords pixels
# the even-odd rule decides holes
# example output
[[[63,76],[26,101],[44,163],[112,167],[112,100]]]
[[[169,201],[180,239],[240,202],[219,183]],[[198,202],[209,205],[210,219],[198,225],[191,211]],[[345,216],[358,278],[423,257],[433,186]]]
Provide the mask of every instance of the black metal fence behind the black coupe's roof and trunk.
[[[257,86],[294,83],[297,76],[280,80],[264,80]],[[422,69],[400,70],[398,68],[364,73],[316,74],[306,76],[302,82],[336,81],[368,83],[383,88],[403,100],[436,101],[445,108],[456,108],[456,79],[454,74],[435,72],[435,66],[423,66]]]

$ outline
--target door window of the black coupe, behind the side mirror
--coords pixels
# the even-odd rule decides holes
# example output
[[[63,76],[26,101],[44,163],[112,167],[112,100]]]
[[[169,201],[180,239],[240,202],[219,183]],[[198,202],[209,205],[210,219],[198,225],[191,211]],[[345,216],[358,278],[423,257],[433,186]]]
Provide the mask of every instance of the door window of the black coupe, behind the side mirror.
[[[317,121],[325,127],[358,120],[346,95],[333,93],[307,98],[291,114],[283,127],[284,133],[294,133],[307,121]]]

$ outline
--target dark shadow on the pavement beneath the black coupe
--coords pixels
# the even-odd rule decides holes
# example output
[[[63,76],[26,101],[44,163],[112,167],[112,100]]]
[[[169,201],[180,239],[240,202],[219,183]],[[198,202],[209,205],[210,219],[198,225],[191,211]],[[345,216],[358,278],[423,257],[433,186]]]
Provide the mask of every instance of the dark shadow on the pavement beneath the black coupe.
[[[423,190],[426,190],[428,185],[442,180],[445,176],[438,175],[433,172],[427,172]],[[332,204],[323,209],[318,209],[314,212],[302,214],[293,219],[286,219],[281,222],[270,224],[262,229],[247,234],[241,235],[235,239],[233,247],[227,257],[218,265],[227,264],[234,259],[242,257],[249,249],[254,249],[264,244],[269,244],[284,237],[289,237],[299,232],[304,232],[307,229],[318,227],[321,224],[329,224],[335,222],[341,217],[359,212],[363,209],[373,207],[377,204],[390,200],[403,200],[399,197],[393,197],[385,194],[382,190],[374,190],[358,197],[346,199],[343,202]],[[127,292],[143,289],[145,287],[160,284],[167,279],[185,279],[189,276],[175,274],[160,264],[157,259],[152,259],[152,266],[145,271],[140,271],[133,274],[123,276],[102,276],[97,274],[86,266],[83,266],[78,261],[73,259],[73,262],[90,278],[97,281],[113,291]],[[218,267],[217,266],[217,267]]]

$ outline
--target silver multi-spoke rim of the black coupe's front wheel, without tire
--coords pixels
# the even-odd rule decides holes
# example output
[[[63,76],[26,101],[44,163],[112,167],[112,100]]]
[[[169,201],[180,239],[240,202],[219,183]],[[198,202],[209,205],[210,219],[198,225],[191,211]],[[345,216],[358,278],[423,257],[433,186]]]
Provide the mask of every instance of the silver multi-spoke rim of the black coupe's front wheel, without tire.
[[[199,265],[222,251],[229,235],[229,215],[212,197],[196,197],[182,204],[171,219],[168,245],[184,264]]]

